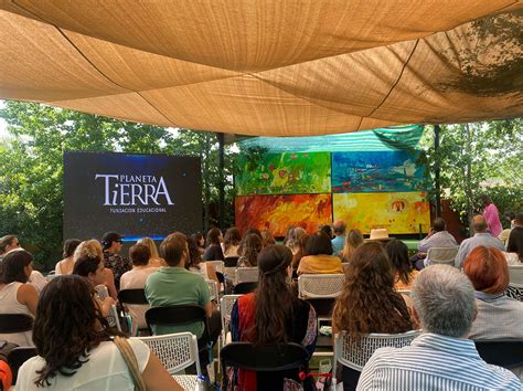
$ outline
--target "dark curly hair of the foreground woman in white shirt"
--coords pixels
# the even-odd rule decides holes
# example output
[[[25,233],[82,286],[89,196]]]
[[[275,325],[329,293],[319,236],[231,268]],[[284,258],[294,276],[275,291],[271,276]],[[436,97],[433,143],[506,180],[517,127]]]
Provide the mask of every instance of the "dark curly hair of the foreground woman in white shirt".
[[[57,373],[66,377],[89,360],[89,351],[113,336],[94,300],[93,286],[83,277],[53,278],[42,290],[34,319],[33,341],[45,366],[36,371],[36,387],[51,385]]]

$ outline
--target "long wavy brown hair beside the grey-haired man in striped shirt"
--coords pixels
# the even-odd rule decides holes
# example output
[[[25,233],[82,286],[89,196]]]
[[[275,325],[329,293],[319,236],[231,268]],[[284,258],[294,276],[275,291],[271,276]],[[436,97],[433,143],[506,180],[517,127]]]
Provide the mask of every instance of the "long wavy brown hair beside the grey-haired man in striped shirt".
[[[387,254],[380,243],[356,249],[345,273],[332,323],[354,340],[370,332],[412,330],[410,315],[403,297],[393,288],[394,277]]]

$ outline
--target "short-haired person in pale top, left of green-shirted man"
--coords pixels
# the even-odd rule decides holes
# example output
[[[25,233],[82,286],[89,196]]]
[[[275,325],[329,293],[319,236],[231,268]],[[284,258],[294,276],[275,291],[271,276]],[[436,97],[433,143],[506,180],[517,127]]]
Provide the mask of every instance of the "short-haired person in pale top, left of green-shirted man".
[[[145,289],[147,277],[158,271],[157,263],[150,263],[151,251],[145,244],[135,244],[129,249],[129,257],[132,262],[132,270],[121,275],[120,290]],[[134,331],[137,328],[147,328],[146,311],[150,307],[143,304],[127,304],[126,307],[132,318]]]

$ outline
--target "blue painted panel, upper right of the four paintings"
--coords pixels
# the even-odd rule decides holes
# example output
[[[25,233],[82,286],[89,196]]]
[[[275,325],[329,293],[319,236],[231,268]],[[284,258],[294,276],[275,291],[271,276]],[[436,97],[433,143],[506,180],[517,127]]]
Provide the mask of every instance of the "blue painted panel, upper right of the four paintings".
[[[424,168],[406,151],[332,154],[332,192],[416,191]]]

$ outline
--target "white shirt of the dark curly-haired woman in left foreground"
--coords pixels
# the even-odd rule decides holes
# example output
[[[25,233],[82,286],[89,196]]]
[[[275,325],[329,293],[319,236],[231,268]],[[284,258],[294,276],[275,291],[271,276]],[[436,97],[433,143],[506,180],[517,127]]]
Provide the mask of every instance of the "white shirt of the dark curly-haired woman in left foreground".
[[[138,339],[128,339],[138,361],[140,372],[143,372],[149,362],[149,347]],[[45,388],[36,388],[34,379],[36,371],[41,370],[45,364],[45,360],[38,356],[30,358],[20,368],[17,390],[77,390],[77,391],[134,391],[135,382],[129,373],[127,363],[121,357],[120,351],[115,342],[102,342],[98,347],[90,351],[88,361],[82,364],[75,374],[65,377],[56,374],[50,379],[51,385]]]

